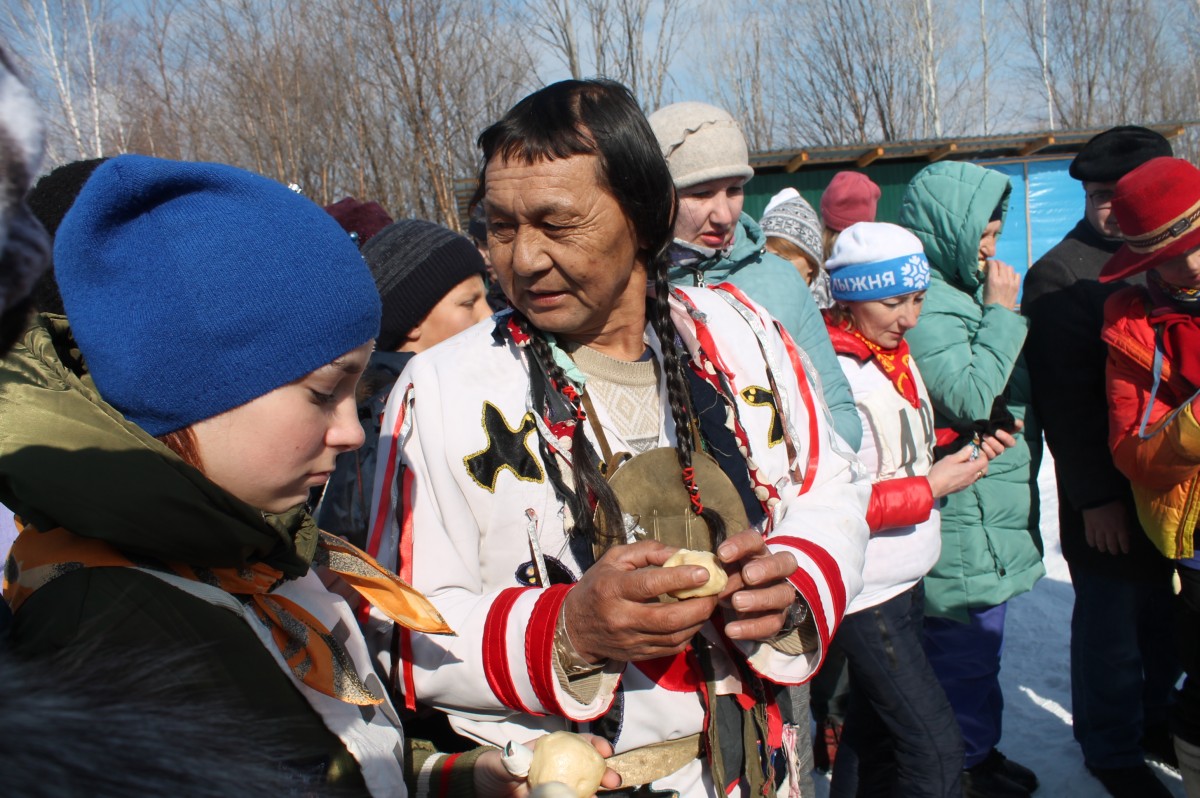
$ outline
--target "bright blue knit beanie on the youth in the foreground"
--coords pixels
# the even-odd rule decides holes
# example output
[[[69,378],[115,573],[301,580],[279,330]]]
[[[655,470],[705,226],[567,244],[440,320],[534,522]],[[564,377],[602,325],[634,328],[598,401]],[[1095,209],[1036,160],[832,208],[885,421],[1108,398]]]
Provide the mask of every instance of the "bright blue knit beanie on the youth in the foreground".
[[[379,294],[320,206],[216,163],[122,155],[54,239],[104,400],[152,436],[269,394],[376,336]]]

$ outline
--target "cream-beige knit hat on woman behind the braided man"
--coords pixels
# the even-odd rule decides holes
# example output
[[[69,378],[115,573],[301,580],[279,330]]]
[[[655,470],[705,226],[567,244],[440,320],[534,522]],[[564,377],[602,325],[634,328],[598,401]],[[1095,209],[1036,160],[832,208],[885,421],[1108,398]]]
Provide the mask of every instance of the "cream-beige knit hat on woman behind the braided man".
[[[754,176],[746,139],[728,112],[702,102],[677,102],[650,114],[650,127],[676,188]]]

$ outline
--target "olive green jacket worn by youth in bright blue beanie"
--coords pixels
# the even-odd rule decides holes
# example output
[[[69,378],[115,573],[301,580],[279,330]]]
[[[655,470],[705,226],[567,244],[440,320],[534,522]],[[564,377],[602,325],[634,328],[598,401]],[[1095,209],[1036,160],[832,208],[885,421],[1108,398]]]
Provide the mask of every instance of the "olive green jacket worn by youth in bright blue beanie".
[[[134,562],[265,562],[296,577],[307,572],[317,545],[316,523],[302,508],[280,516],[258,511],[106,403],[62,317],[40,317],[0,361],[0,503],[36,528],[103,540]],[[127,568],[67,572],[20,606],[11,634],[23,656],[132,652],[161,655],[168,667],[185,656],[186,680],[166,700],[244,708],[247,744],[263,724],[284,730],[286,739],[276,742],[298,768],[323,768],[348,794],[366,794],[353,757],[253,631],[154,576]],[[474,756],[468,760],[466,780],[455,784],[464,792]]]

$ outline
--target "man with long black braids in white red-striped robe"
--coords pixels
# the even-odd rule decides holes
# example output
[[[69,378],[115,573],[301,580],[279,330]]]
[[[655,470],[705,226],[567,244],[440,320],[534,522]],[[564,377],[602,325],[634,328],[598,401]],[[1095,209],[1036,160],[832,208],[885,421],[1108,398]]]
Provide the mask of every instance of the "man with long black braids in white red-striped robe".
[[[415,356],[384,418],[368,546],[457,631],[397,629],[394,683],[475,740],[600,733],[628,788],[770,796],[768,683],[860,589],[869,485],[769,316],[667,284],[671,175],[623,86],[551,85],[480,146],[512,310]],[[660,600],[709,578],[677,548],[716,552],[719,595]]]

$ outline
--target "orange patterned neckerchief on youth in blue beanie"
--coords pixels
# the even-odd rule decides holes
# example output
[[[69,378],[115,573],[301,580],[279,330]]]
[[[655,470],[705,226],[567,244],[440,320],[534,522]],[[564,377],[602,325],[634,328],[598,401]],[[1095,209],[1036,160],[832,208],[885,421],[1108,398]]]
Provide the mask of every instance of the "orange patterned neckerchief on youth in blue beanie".
[[[380,612],[407,629],[452,635],[440,613],[416,589],[341,538],[319,533],[313,565],[336,574]],[[59,527],[23,526],[5,566],[4,596],[13,612],[38,588],[82,568],[138,568],[218,587],[236,596],[271,630],[292,673],[307,686],[350,704],[383,703],[359,677],[349,654],[329,629],[298,602],[272,594],[283,572],[265,563],[241,568],[193,568],[136,562],[118,548]]]

